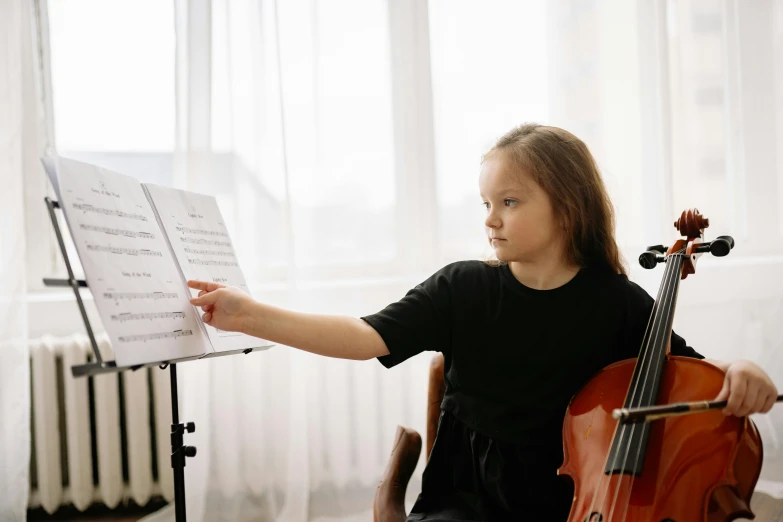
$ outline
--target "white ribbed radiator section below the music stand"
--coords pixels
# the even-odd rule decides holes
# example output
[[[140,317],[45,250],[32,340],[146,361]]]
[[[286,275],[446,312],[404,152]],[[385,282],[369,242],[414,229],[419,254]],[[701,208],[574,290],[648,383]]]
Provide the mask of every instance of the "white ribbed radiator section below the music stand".
[[[101,353],[110,353],[99,337]],[[54,513],[72,504],[114,508],[133,500],[174,498],[169,372],[74,378],[71,366],[92,354],[84,335],[30,343],[31,430],[29,507]]]

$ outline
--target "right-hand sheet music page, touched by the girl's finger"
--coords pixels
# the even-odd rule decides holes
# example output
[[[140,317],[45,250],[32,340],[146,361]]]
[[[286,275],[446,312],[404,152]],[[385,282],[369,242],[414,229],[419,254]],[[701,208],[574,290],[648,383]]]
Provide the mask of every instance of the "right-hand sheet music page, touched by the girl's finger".
[[[250,294],[223,216],[213,196],[145,183],[154,210],[188,279],[235,286]],[[195,290],[193,295],[197,295]],[[201,311],[199,310],[199,318]],[[215,351],[271,346],[269,341],[237,332],[224,332],[202,322]]]

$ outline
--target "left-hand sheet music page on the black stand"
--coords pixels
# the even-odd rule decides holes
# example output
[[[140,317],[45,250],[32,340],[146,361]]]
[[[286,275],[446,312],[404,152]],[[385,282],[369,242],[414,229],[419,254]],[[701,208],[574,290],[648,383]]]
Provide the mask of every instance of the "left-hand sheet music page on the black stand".
[[[205,354],[200,319],[139,181],[65,158],[57,177],[117,366]]]

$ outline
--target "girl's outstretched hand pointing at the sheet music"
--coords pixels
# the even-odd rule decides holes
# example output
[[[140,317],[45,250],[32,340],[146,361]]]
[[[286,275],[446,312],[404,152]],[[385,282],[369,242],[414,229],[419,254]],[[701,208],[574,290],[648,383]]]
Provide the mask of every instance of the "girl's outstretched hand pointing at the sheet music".
[[[253,298],[238,288],[218,283],[191,280],[188,286],[201,290],[190,302],[204,311],[201,318],[206,324],[228,332],[243,331]]]

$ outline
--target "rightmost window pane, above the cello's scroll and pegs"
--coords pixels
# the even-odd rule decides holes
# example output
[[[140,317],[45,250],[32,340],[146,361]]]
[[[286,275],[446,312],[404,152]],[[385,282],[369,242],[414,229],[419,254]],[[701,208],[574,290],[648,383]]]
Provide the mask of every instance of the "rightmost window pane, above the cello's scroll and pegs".
[[[780,6],[669,0],[666,9],[674,209],[699,208],[710,236],[734,237],[733,257],[780,255]]]

